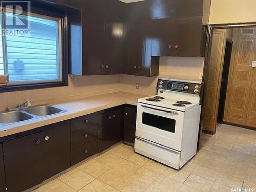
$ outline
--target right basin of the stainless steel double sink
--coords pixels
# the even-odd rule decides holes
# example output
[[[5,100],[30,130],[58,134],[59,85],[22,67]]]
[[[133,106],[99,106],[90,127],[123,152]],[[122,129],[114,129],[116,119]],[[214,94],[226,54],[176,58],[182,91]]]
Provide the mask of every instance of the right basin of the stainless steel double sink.
[[[43,105],[43,106],[34,106],[32,108],[28,108],[26,112],[36,116],[47,116],[47,115],[62,113],[62,112],[65,112],[65,110],[56,108],[56,106]]]

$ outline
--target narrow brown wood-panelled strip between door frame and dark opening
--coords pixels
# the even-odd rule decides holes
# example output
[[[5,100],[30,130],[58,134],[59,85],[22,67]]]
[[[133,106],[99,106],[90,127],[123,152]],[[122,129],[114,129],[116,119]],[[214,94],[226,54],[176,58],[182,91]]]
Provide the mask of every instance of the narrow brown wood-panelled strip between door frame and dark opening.
[[[215,133],[226,38],[232,39],[231,29],[214,30],[210,63],[203,101],[203,130]]]

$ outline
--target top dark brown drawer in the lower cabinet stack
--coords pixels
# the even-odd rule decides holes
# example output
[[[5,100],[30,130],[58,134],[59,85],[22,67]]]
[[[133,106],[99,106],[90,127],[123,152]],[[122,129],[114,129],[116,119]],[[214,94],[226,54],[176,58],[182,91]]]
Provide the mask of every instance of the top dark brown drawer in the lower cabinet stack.
[[[99,114],[92,113],[89,115],[84,115],[82,117],[75,118],[71,123],[71,132],[78,131],[84,127],[92,126],[98,124]]]

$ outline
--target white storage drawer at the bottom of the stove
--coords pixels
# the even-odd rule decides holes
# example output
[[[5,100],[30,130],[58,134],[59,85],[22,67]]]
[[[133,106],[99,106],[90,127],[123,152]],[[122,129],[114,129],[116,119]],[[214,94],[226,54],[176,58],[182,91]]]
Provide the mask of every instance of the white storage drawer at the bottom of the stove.
[[[135,138],[135,152],[150,157],[156,161],[166,164],[170,167],[180,168],[181,152],[163,147],[153,142]]]

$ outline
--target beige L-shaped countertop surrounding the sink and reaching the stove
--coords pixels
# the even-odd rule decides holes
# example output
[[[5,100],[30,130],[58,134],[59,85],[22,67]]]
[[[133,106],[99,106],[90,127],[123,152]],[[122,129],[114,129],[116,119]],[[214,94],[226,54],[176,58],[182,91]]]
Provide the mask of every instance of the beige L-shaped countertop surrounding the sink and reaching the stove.
[[[87,97],[83,99],[68,100],[58,103],[46,103],[65,109],[67,110],[67,112],[42,118],[21,121],[7,126],[0,126],[0,137],[5,137],[8,135],[32,130],[40,126],[45,126],[75,117],[80,117],[122,104],[137,105],[137,100],[143,97],[146,97],[146,95],[126,92],[114,92]]]

